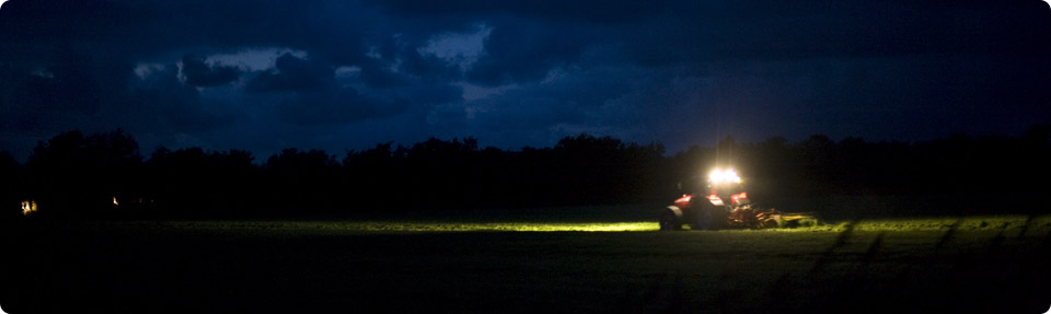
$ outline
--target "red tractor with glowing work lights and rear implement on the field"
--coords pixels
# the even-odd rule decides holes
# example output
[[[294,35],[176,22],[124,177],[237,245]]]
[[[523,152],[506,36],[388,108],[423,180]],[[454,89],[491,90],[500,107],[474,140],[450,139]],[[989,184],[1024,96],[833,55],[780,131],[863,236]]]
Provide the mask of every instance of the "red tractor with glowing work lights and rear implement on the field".
[[[693,177],[688,183],[701,182]],[[713,171],[704,185],[683,186],[688,194],[668,206],[660,216],[660,230],[770,229],[816,221],[809,214],[785,214],[776,209],[762,209],[748,198],[737,171]]]

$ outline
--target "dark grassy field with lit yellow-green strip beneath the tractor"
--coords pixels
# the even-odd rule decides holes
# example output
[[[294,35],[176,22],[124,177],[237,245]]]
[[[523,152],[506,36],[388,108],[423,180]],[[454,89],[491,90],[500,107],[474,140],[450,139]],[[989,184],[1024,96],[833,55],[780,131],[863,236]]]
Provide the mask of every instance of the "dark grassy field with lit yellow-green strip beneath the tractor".
[[[467,220],[19,222],[3,230],[0,306],[3,313],[1051,311],[1047,216],[718,232],[658,232],[655,222],[635,220]]]

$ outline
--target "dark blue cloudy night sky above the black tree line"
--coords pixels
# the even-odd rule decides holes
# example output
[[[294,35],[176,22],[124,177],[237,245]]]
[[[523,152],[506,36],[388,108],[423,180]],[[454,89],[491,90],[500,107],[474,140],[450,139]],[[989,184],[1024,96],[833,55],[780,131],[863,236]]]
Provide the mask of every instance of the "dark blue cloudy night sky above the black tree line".
[[[1048,1],[9,0],[0,150],[1020,136],[1049,56]]]

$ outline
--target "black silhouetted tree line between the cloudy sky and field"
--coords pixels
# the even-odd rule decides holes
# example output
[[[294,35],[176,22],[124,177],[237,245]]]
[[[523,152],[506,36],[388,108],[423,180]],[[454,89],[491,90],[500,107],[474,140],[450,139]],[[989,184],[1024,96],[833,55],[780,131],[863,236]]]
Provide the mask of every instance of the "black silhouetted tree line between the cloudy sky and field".
[[[480,148],[431,138],[346,151],[164,147],[143,158],[119,129],[72,130],[39,142],[20,164],[0,152],[4,219],[33,200],[50,217],[217,217],[670,202],[713,166],[741,171],[752,198],[829,195],[1041,196],[1051,177],[1049,126],[1019,138],[954,136],[928,142],[788,142],[771,138],[666,154],[581,133],[551,148]],[[1047,207],[1044,207],[1047,208]]]

